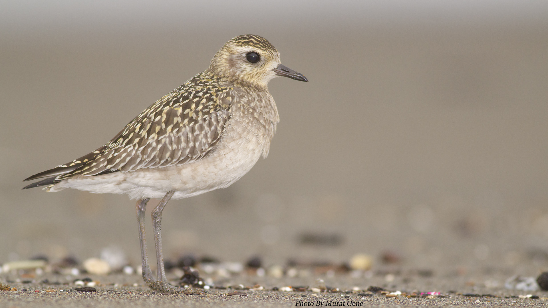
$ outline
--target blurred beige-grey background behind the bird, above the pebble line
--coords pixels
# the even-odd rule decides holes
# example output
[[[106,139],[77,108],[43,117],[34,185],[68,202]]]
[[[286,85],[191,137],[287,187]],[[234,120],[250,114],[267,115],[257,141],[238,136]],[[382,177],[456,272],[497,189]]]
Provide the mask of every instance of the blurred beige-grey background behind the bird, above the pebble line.
[[[270,83],[267,159],[169,202],[166,258],[548,267],[544,0],[0,5],[0,264],[118,247],[139,265],[134,201],[22,180],[105,144],[253,33],[310,82]]]

